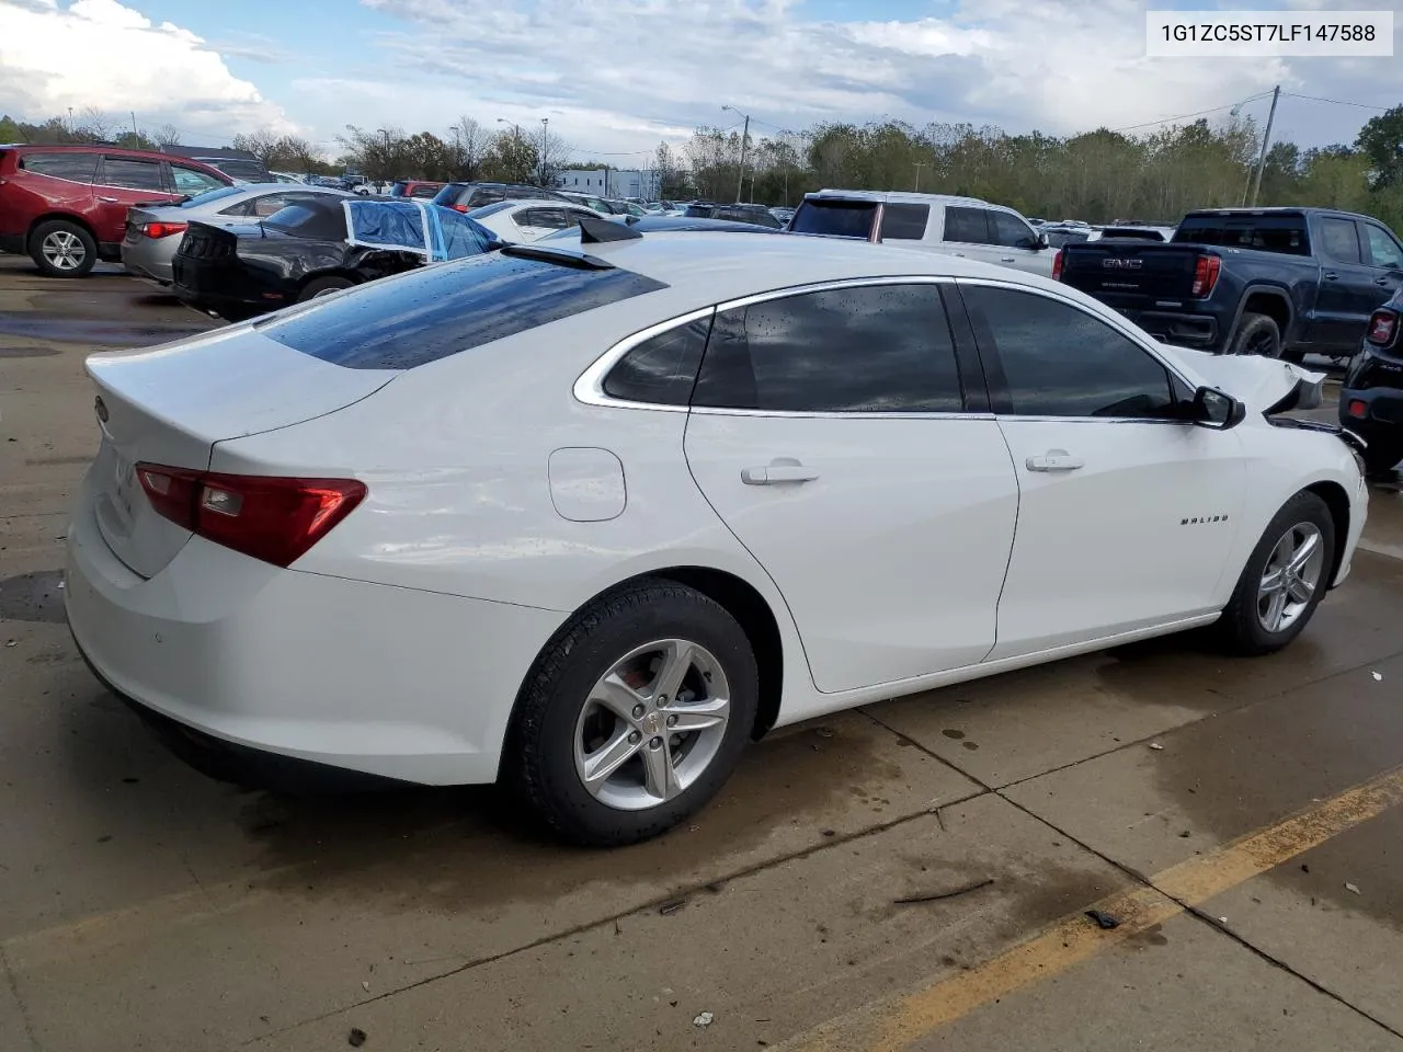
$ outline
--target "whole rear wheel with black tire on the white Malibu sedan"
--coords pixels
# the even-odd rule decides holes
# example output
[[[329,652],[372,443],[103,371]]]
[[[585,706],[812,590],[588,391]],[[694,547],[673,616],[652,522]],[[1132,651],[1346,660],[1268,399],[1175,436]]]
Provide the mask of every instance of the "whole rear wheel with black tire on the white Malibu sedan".
[[[575,614],[536,659],[508,783],[565,840],[613,847],[696,814],[755,725],[755,654],[700,592],[643,579]]]

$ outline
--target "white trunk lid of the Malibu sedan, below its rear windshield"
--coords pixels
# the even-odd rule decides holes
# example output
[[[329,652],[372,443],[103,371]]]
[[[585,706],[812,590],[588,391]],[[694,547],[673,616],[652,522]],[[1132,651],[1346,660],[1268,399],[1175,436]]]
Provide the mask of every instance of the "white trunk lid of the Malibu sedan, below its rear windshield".
[[[216,442],[302,424],[373,394],[398,373],[342,369],[251,325],[91,355],[102,442],[88,470],[98,530],[133,572],[159,574],[191,533],[160,516],[136,464],[208,470]]]

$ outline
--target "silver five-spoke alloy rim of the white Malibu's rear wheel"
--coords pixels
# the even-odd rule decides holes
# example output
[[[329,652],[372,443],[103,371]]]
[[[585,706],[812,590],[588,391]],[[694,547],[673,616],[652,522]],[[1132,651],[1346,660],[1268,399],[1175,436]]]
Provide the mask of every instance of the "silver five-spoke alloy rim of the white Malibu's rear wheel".
[[[589,690],[575,721],[575,773],[607,807],[665,804],[716,759],[730,710],[725,670],[706,647],[690,640],[636,647]]]

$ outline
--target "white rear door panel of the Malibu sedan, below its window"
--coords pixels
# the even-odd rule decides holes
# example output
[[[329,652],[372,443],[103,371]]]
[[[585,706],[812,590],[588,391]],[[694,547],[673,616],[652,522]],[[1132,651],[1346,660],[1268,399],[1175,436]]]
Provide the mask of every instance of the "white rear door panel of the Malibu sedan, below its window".
[[[685,447],[784,595],[819,690],[989,652],[1017,515],[993,419],[693,411]]]

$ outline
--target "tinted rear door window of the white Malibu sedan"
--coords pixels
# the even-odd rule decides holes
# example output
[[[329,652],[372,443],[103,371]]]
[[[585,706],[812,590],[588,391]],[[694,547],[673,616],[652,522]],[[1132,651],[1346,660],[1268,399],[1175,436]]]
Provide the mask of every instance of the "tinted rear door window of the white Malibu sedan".
[[[940,292],[877,285],[720,311],[692,404],[955,412],[962,400]]]

